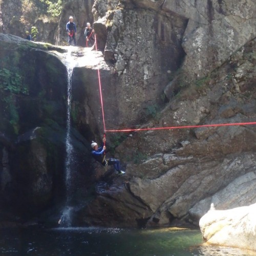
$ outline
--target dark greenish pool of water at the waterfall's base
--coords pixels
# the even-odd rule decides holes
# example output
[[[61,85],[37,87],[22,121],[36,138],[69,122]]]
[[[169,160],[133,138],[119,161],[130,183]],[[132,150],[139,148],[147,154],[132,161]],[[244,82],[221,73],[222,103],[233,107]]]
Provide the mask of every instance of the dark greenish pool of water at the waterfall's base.
[[[0,229],[0,255],[248,255],[202,245],[199,230],[56,228]]]

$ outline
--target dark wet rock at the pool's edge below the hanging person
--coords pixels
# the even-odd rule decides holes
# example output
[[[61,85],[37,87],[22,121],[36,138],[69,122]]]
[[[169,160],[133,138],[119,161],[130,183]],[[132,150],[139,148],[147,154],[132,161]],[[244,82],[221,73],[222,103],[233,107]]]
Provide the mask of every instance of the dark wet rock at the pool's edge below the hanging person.
[[[143,202],[131,197],[129,189],[129,183],[116,186],[99,183],[96,198],[78,213],[80,225],[144,227],[152,211]]]

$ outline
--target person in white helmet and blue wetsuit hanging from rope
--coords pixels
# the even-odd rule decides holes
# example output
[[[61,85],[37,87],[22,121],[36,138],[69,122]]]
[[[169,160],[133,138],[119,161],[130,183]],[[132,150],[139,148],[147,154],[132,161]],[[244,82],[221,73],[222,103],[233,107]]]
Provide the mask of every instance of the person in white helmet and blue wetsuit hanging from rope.
[[[108,165],[114,165],[115,170],[118,174],[125,174],[123,170],[121,170],[120,166],[120,161],[115,158],[106,158],[105,151],[106,151],[106,146],[105,142],[106,139],[105,137],[102,140],[103,144],[99,147],[98,144],[94,141],[92,141],[91,147],[92,147],[92,156],[93,158],[101,163],[103,166],[108,166]]]

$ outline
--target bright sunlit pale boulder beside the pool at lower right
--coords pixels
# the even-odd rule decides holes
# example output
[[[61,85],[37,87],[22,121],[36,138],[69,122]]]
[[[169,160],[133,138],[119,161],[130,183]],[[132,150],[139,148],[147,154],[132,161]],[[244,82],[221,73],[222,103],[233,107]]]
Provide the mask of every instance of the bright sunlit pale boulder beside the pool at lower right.
[[[229,210],[209,210],[199,222],[204,241],[256,251],[255,211],[256,204]]]

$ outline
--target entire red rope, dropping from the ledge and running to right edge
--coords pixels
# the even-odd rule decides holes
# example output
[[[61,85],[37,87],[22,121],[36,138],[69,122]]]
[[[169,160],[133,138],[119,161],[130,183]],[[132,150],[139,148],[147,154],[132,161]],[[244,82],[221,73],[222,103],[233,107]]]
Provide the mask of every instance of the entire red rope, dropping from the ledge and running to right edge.
[[[95,48],[97,49],[97,39],[95,34]],[[216,124],[201,124],[201,125],[183,125],[183,126],[168,126],[168,127],[153,127],[153,128],[140,128],[140,129],[117,129],[117,130],[106,130],[105,126],[105,116],[104,116],[104,108],[103,108],[103,96],[101,90],[101,81],[100,81],[100,72],[99,72],[99,64],[98,64],[98,80],[99,80],[99,93],[100,93],[100,102],[101,102],[101,110],[102,110],[102,119],[103,119],[103,127],[104,127],[104,138],[106,132],[139,132],[139,131],[154,131],[154,130],[172,130],[172,129],[190,129],[190,128],[199,128],[199,127],[220,127],[220,126],[234,126],[234,125],[253,125],[256,122],[240,122],[240,123],[216,123]]]

